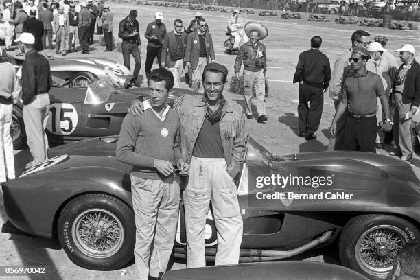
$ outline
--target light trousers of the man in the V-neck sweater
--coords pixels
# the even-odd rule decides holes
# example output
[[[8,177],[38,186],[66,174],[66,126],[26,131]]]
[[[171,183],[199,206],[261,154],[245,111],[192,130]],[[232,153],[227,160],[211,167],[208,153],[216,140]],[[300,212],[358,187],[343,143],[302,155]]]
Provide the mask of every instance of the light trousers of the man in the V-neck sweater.
[[[135,212],[135,267],[139,280],[165,272],[174,247],[179,212],[178,180],[150,180],[131,175]]]

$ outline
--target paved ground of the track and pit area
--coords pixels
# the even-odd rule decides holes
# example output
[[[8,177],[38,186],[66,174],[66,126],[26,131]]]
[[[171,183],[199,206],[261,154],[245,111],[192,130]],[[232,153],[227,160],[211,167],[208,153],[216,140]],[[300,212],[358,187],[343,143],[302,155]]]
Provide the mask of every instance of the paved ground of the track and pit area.
[[[153,20],[154,12],[163,12],[163,22],[167,29],[172,30],[172,22],[175,18],[183,19],[185,25],[194,17],[194,10],[179,10],[175,8],[155,7],[150,5],[128,5],[124,3],[110,3],[110,9],[115,12],[114,36],[117,38],[118,22],[128,14],[130,9],[139,11],[139,23],[141,32],[145,31],[145,25]],[[229,14],[220,12],[201,11],[209,23],[210,31],[213,35],[216,60],[226,65],[230,75],[233,75],[233,63],[235,56],[224,53],[223,43],[225,40],[224,28]],[[247,120],[246,130],[249,135],[254,137],[259,143],[275,154],[288,154],[292,152],[312,152],[326,150],[328,144],[328,128],[334,117],[334,106],[325,96],[323,118],[320,129],[316,132],[317,139],[305,141],[296,136],[297,113],[296,106],[298,100],[297,86],[292,84],[292,76],[297,58],[301,51],[310,47],[310,38],[320,35],[323,38],[323,51],[331,63],[334,65],[336,56],[342,54],[349,48],[351,43],[351,33],[357,29],[364,29],[372,36],[384,34],[390,40],[388,49],[393,50],[400,47],[403,43],[415,45],[420,49],[419,33],[413,31],[384,30],[380,27],[358,27],[357,25],[336,25],[334,16],[330,16],[331,23],[307,21],[307,14],[301,13],[302,19],[281,19],[266,18],[257,15],[248,16],[249,20],[264,21],[268,27],[269,36],[264,40],[267,47],[268,56],[268,80],[270,81],[270,97],[268,99],[268,122],[267,124],[257,124],[254,119]],[[145,61],[145,38],[142,36],[143,60],[141,75],[144,75]],[[95,51],[91,56],[103,56],[104,47],[93,45]],[[51,54],[53,54],[51,52]],[[395,54],[395,53],[393,53]],[[83,56],[82,54],[69,54],[69,57]],[[117,50],[106,53],[106,56],[117,61],[122,61],[122,54]],[[417,55],[417,60],[420,56]],[[133,66],[132,66],[133,67]],[[331,65],[332,67],[332,65]],[[225,92],[226,98],[244,104],[240,95]],[[256,117],[256,112],[254,113]],[[19,151],[16,151],[19,152]],[[384,151],[378,151],[385,153]],[[6,220],[5,211],[0,198],[0,223]],[[51,240],[38,237],[27,237],[21,235],[0,234],[0,265],[3,266],[36,266],[45,267],[45,275],[32,275],[29,277],[10,277],[10,279],[133,279],[133,266],[129,264],[125,270],[126,274],[121,275],[121,270],[111,272],[97,272],[85,270],[75,266],[65,255],[60,245]],[[333,264],[338,263],[334,254],[334,248],[324,250],[314,250],[294,257],[294,259],[311,259],[316,261],[326,261]],[[175,260],[172,269],[185,268],[185,262]],[[0,270],[1,271],[1,270]],[[0,273],[1,275],[1,273]],[[6,279],[9,277],[1,277]]]

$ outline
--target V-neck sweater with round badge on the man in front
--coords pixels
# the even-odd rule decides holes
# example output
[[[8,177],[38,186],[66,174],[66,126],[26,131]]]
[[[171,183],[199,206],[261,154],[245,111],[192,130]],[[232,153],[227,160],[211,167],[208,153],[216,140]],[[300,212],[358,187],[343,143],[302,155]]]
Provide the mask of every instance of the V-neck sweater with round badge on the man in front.
[[[117,159],[133,166],[132,174],[145,179],[158,180],[165,176],[153,167],[154,159],[163,159],[175,164],[182,159],[179,134],[179,117],[170,108],[165,120],[148,108],[141,117],[127,114],[124,118],[117,143]],[[167,129],[167,136],[163,129]]]

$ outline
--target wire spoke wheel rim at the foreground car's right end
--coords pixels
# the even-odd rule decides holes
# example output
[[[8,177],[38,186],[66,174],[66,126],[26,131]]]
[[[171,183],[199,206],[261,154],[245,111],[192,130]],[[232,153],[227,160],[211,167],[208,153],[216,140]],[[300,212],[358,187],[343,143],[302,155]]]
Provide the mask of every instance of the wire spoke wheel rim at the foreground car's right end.
[[[388,272],[408,240],[406,233],[395,226],[375,226],[360,235],[355,246],[356,261],[365,272]]]

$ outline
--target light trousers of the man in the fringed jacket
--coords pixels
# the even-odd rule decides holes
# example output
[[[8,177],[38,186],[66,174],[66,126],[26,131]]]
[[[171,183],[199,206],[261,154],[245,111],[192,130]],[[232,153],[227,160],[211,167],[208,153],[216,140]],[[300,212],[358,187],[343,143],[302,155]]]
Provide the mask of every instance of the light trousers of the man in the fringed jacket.
[[[183,197],[187,233],[187,268],[206,266],[204,233],[210,202],[218,230],[215,265],[237,264],[243,223],[236,185],[226,171],[224,158],[193,157]]]

